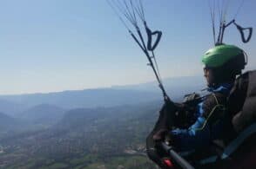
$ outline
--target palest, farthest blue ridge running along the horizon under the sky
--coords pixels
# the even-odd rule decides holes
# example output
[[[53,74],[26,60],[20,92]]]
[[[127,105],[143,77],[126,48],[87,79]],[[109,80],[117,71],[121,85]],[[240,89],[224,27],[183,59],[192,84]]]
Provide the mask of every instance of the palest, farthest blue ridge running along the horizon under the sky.
[[[164,85],[167,93],[174,101],[180,100],[184,94],[198,91],[205,86],[203,77],[199,76],[168,78],[164,80]],[[117,107],[148,101],[160,101],[162,100],[162,94],[158,88],[158,83],[152,81],[136,85],[49,94],[2,95],[0,99],[28,107],[50,104],[65,109],[73,109],[77,107]]]

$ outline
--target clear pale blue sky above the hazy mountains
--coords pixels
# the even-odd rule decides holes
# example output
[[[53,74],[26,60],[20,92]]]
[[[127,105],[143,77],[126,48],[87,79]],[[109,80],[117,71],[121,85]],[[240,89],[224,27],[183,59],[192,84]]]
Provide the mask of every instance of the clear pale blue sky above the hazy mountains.
[[[232,20],[242,1],[229,3],[227,20]],[[155,50],[161,76],[203,75],[201,56],[213,46],[207,1],[143,3],[148,26],[163,32]],[[237,22],[256,28],[255,8],[256,1],[245,0]],[[247,69],[255,68],[254,35],[249,43],[242,43],[231,26],[224,42],[245,49]],[[105,0],[0,0],[0,58],[0,94],[155,81],[145,55]]]

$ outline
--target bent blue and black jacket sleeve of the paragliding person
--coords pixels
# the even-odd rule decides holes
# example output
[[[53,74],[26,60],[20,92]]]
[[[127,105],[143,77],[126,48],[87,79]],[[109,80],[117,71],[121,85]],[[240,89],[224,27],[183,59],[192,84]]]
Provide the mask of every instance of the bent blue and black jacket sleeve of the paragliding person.
[[[211,144],[211,140],[221,137],[224,127],[226,97],[223,94],[210,94],[199,103],[197,120],[187,129],[171,131],[172,145],[179,151],[191,151]]]

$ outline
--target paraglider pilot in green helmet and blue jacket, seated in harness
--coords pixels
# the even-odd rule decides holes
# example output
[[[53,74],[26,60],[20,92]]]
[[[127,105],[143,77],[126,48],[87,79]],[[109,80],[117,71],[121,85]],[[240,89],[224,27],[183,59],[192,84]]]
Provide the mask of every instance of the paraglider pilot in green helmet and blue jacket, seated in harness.
[[[203,55],[207,94],[190,94],[183,103],[165,101],[158,122],[147,138],[147,153],[161,168],[171,168],[165,163],[165,153],[157,148],[166,141],[177,152],[207,149],[212,140],[229,140],[232,122],[226,111],[226,100],[237,75],[246,65],[246,55],[234,45],[220,44]]]

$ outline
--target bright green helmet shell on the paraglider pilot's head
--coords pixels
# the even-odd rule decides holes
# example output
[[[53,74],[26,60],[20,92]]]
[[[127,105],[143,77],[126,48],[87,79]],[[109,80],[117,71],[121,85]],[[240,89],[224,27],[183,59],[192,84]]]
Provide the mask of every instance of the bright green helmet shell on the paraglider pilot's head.
[[[243,55],[244,57],[244,51],[234,45],[221,44],[206,51],[202,62],[209,68],[219,68],[235,59],[238,55]],[[245,65],[246,63],[243,62],[242,64]]]

